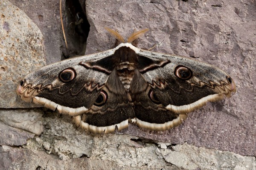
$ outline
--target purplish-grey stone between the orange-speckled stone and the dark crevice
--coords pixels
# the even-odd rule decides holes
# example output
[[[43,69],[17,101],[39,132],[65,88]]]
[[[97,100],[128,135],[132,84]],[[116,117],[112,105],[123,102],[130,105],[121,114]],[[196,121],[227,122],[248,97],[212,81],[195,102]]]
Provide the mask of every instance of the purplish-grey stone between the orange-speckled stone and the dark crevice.
[[[47,64],[60,61],[60,46],[64,44],[61,34],[59,0],[10,0],[10,2],[23,10],[41,30],[44,36]]]

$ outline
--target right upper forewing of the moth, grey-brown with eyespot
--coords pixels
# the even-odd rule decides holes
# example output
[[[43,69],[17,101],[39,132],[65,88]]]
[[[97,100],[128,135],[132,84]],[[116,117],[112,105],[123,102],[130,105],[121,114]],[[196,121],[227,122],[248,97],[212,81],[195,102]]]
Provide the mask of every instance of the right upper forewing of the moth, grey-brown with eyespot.
[[[174,113],[189,113],[236,91],[228,74],[207,63],[146,50],[137,54],[140,73],[161,104]]]

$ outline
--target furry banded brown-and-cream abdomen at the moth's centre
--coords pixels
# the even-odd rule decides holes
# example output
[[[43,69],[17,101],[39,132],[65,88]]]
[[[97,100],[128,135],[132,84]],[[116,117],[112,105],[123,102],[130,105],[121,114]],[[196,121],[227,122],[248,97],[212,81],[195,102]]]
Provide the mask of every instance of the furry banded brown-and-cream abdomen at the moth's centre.
[[[129,90],[134,77],[134,63],[122,62],[116,65],[116,72],[124,88]]]

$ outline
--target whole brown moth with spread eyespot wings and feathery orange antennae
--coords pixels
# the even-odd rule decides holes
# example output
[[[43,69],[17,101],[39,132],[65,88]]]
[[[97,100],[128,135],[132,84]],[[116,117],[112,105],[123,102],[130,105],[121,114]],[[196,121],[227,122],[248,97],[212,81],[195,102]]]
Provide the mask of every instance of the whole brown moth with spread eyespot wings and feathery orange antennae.
[[[186,57],[137,48],[148,29],[116,47],[33,71],[17,87],[26,102],[73,116],[77,126],[111,133],[134,123],[150,130],[180,125],[187,113],[230,97],[236,85],[221,69]]]

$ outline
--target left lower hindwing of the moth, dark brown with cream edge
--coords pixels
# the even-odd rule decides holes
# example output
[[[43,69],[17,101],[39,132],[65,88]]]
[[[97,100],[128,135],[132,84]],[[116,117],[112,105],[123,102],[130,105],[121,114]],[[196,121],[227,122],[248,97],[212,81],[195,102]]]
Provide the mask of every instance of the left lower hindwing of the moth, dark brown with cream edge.
[[[127,128],[129,122],[134,121],[134,109],[115,69],[101,93],[97,105],[73,118],[75,124],[93,133],[111,133],[116,128]]]

